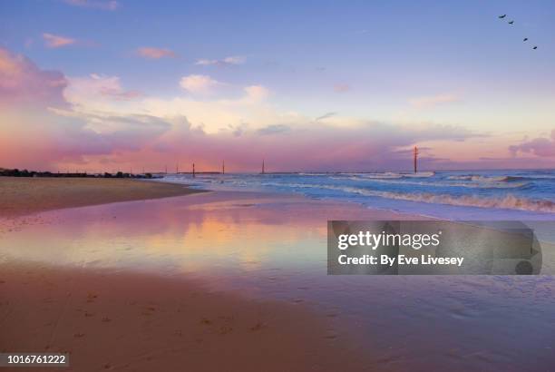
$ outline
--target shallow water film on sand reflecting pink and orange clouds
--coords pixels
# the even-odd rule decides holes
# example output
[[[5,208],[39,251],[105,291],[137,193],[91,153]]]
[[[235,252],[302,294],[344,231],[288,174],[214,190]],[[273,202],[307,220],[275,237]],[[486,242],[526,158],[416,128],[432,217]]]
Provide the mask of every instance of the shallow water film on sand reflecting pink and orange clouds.
[[[380,370],[555,366],[554,277],[326,275],[326,220],[391,217],[237,192],[123,202],[21,220],[0,233],[0,260],[155,272],[305,305]]]

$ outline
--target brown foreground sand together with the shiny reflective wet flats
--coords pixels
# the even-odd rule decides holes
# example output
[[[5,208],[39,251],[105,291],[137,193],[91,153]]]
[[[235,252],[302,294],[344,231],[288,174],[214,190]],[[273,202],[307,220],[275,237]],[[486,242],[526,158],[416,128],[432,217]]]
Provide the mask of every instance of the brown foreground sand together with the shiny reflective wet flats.
[[[326,275],[326,220],[423,217],[243,191],[20,203],[0,219],[2,352],[85,372],[552,365],[553,277]]]

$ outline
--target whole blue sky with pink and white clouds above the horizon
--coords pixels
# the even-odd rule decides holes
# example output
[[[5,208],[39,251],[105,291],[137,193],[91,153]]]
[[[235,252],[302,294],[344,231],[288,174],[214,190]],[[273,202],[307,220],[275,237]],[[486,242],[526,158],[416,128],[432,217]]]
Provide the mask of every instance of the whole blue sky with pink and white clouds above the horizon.
[[[553,19],[552,1],[3,1],[0,167],[403,171],[417,145],[423,170],[552,168]]]

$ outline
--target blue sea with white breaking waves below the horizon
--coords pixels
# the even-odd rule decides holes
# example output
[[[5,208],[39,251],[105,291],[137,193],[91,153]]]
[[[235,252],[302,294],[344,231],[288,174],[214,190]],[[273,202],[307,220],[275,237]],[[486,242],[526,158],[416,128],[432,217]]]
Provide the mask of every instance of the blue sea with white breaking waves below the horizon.
[[[555,170],[167,174],[226,191],[297,193],[444,220],[555,220]]]

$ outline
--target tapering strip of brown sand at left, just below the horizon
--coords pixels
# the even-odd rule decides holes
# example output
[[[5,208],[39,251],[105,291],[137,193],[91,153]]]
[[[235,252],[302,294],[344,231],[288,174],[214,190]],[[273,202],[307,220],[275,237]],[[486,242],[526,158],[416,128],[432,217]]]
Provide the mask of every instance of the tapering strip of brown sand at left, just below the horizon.
[[[201,192],[183,185],[103,178],[0,177],[0,217]]]

